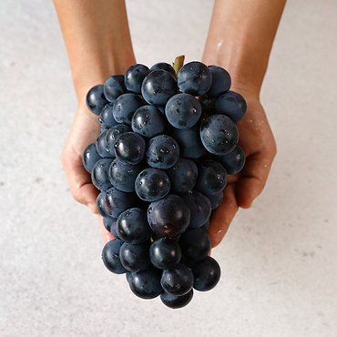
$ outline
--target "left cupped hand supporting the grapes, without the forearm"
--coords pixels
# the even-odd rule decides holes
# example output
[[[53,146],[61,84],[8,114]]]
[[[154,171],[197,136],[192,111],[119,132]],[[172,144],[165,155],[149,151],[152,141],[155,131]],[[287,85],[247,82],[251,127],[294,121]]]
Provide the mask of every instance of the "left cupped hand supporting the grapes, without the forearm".
[[[89,209],[97,214],[103,239],[106,243],[108,240],[112,240],[113,236],[105,229],[103,218],[97,212],[96,199],[99,191],[92,184],[90,174],[82,163],[82,153],[87,148],[87,145],[96,140],[99,135],[99,129],[97,116],[87,110],[87,107],[79,107],[66,140],[66,145],[63,148],[61,159],[73,198],[87,205]]]

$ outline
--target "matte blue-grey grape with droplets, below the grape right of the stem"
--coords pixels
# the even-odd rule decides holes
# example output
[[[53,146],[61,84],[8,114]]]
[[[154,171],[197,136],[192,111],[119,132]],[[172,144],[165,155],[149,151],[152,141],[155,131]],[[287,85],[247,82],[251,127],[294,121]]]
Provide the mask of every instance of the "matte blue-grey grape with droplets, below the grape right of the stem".
[[[165,107],[165,115],[174,128],[192,128],[201,116],[199,100],[189,94],[170,97]]]

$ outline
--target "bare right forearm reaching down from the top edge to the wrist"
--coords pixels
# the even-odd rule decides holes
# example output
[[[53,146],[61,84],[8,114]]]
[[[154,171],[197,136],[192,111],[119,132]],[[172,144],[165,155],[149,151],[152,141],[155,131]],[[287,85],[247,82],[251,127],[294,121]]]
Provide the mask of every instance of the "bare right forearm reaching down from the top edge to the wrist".
[[[234,86],[257,95],[285,0],[216,0],[204,62],[229,70]]]

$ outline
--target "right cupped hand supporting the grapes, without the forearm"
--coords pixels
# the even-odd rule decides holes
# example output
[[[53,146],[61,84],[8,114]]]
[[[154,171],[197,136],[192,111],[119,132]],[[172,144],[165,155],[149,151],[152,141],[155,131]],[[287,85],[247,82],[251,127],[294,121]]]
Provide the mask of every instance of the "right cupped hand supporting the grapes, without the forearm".
[[[275,139],[258,94],[249,89],[233,87],[232,90],[239,92],[247,102],[246,116],[237,124],[246,164],[239,174],[229,176],[223,201],[212,213],[209,225],[212,247],[223,239],[239,207],[250,208],[259,196],[276,155]]]

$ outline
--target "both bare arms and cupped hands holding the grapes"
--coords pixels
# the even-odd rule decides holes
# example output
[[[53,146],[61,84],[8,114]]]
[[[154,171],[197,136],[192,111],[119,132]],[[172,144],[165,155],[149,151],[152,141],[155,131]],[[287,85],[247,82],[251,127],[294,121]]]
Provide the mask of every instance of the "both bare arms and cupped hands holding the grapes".
[[[260,194],[276,154],[275,140],[260,104],[260,87],[284,3],[284,0],[219,0],[214,4],[203,62],[223,66],[230,72],[231,89],[245,97],[248,110],[238,124],[247,162],[240,174],[230,176],[224,200],[212,216],[209,227],[212,247],[223,239],[239,207],[249,208]],[[84,149],[99,134],[97,116],[87,110],[85,97],[90,87],[104,83],[112,74],[124,74],[128,66],[136,63],[126,6],[121,0],[54,0],[54,5],[78,101],[62,151],[62,164],[74,199],[97,214],[107,242],[113,237],[97,213],[98,190],[82,165]]]

